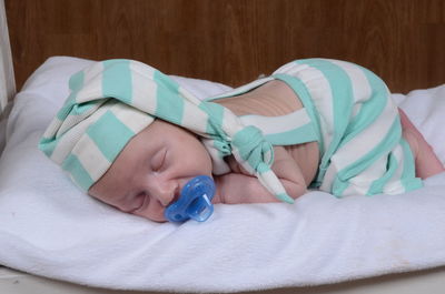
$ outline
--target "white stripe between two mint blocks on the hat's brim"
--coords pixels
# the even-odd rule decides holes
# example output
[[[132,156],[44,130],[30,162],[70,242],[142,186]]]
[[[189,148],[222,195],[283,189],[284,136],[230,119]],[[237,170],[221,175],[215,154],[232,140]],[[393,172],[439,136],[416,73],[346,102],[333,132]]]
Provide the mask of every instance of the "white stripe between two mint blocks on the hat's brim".
[[[110,162],[103,156],[95,141],[87,133],[81,136],[71,153],[77,155],[83,169],[95,182],[110,166]]]

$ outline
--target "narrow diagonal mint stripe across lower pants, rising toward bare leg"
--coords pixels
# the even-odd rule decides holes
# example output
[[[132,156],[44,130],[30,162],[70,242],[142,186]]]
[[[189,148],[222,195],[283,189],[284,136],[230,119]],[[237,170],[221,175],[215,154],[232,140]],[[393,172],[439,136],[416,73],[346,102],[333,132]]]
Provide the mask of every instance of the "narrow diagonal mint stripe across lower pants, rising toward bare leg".
[[[358,175],[370,164],[373,164],[377,159],[384,156],[398,143],[402,136],[400,121],[396,118],[385,138],[368,153],[366,153],[360,159],[356,160],[352,164],[347,165],[345,169],[337,173],[333,186],[335,186],[335,194],[342,194],[343,184],[340,182],[347,182],[349,179]],[[337,183],[338,182],[338,183]],[[337,187],[338,186],[338,187]]]

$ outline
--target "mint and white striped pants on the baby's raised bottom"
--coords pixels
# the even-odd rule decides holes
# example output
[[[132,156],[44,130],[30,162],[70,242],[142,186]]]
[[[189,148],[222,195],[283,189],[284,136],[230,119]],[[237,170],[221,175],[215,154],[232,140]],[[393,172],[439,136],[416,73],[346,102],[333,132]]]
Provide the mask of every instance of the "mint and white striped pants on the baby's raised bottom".
[[[357,64],[329,59],[287,63],[273,77],[298,94],[318,130],[314,186],[336,196],[398,194],[421,187],[386,84]]]

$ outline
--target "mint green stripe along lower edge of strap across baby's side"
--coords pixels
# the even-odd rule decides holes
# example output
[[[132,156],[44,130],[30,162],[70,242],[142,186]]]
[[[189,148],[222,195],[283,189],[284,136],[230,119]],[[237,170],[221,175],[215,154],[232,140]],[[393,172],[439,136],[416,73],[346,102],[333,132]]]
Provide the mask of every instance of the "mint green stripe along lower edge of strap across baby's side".
[[[287,132],[267,134],[265,138],[274,145],[295,145],[318,140],[317,130],[312,122]]]

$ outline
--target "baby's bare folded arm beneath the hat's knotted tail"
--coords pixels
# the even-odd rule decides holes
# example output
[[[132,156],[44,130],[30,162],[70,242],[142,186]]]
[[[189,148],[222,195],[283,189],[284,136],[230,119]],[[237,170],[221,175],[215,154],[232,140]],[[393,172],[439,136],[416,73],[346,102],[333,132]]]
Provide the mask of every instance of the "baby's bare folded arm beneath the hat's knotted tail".
[[[307,191],[303,173],[283,146],[275,146],[275,161],[271,166],[275,174],[281,181],[287,194],[296,199]],[[215,176],[217,193],[215,203],[239,204],[239,203],[267,203],[279,202],[268,192],[256,176],[248,174],[239,165],[230,164],[234,172]]]

